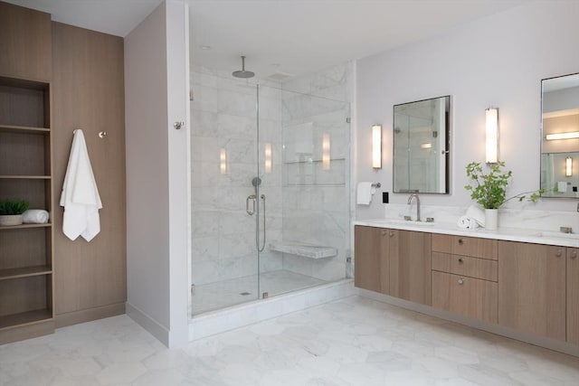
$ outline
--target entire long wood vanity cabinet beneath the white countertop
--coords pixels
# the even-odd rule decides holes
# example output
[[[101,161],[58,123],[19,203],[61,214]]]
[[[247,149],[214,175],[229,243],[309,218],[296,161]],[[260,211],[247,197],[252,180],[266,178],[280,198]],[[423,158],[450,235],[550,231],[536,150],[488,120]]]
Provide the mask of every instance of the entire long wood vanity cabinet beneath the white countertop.
[[[355,241],[356,287],[579,355],[579,248],[361,225]]]

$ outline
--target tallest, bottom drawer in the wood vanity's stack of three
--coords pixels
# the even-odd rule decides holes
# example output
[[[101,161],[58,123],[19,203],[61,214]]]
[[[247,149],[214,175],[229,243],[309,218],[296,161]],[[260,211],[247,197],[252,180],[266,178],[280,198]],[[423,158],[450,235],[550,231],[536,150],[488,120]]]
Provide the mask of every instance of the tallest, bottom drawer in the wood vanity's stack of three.
[[[432,271],[432,306],[497,323],[498,285],[494,281]]]

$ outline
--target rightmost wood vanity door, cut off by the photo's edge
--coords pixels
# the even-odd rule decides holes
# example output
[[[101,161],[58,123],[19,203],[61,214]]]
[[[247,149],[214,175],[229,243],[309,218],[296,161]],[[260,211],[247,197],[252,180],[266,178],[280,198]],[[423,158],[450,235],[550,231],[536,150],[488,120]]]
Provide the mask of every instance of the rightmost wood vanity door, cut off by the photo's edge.
[[[579,249],[567,248],[567,342],[579,344]]]

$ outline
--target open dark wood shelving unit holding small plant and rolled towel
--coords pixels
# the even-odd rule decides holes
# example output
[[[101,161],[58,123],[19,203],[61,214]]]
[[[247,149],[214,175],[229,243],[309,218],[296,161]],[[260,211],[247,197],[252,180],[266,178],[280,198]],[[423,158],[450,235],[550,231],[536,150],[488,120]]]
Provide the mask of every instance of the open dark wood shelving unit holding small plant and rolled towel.
[[[0,76],[0,200],[52,213],[50,83]],[[52,223],[0,227],[0,344],[53,330]]]

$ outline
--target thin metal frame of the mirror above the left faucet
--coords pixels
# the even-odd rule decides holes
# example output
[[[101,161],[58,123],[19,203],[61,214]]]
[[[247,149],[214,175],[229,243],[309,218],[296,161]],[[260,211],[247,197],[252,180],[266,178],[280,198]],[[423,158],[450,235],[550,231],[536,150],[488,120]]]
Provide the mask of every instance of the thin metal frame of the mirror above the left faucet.
[[[432,100],[432,99],[446,99],[446,108],[444,111],[444,131],[445,131],[445,140],[444,142],[441,144],[441,146],[443,146],[443,148],[441,148],[441,152],[444,154],[444,186],[441,186],[441,188],[443,188],[443,192],[421,192],[418,190],[413,190],[413,189],[396,189],[396,184],[395,184],[395,165],[396,165],[396,161],[395,161],[395,139],[394,139],[394,130],[395,130],[395,113],[396,113],[396,108],[400,107],[400,106],[404,106],[404,105],[410,105],[413,103],[419,103],[419,102],[424,102],[427,100]],[[393,119],[392,119],[392,190],[394,193],[421,193],[421,194],[450,194],[451,193],[451,104],[452,104],[452,97],[451,95],[441,95],[440,97],[433,97],[433,98],[427,98],[427,99],[420,99],[420,100],[413,100],[410,102],[405,102],[405,103],[398,103],[396,105],[393,106]]]

